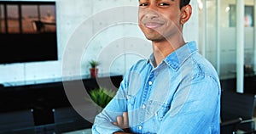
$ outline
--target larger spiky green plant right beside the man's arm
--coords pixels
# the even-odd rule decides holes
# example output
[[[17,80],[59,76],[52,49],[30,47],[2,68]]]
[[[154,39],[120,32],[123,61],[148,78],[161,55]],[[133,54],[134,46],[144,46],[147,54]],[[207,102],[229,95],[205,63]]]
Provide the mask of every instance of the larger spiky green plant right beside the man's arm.
[[[103,87],[90,90],[90,98],[102,108],[105,108],[107,106],[107,104],[113,98],[114,94],[115,92],[113,90]]]

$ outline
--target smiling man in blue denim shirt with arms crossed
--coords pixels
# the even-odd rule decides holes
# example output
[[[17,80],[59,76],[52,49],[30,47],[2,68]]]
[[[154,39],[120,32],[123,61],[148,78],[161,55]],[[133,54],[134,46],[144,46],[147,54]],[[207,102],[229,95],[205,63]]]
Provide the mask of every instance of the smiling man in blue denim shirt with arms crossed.
[[[191,13],[189,0],[139,1],[139,27],[154,53],[131,67],[93,133],[219,133],[218,75],[183,40]]]

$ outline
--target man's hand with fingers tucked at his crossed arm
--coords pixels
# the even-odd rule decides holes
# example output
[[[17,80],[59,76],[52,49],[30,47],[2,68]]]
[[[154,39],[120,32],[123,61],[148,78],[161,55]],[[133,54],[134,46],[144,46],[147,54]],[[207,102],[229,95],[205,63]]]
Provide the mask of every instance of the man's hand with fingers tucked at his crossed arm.
[[[114,126],[119,126],[125,132],[129,132],[129,120],[128,120],[128,113],[124,112],[122,116],[118,116],[116,118],[117,122],[113,122]]]

